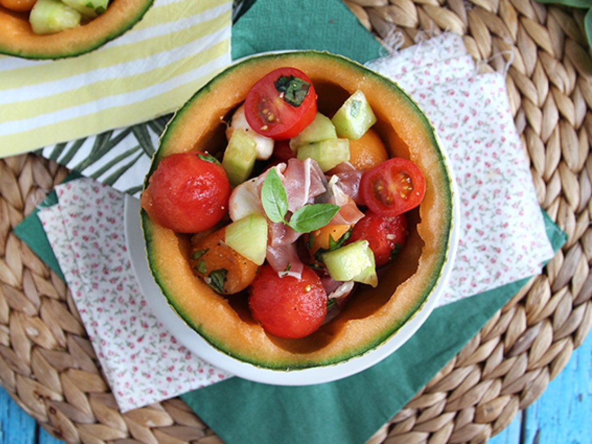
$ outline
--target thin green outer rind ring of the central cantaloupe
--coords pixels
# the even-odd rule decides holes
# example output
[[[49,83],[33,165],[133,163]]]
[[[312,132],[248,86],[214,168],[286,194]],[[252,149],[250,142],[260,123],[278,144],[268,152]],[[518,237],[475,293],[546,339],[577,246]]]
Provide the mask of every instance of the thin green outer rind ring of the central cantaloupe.
[[[397,83],[391,81],[390,79],[388,79],[385,76],[382,76],[378,73],[370,72],[368,69],[366,69],[362,65],[359,65],[359,63],[353,62],[352,60],[349,60],[343,56],[337,56],[335,54],[329,54],[326,52],[317,52],[317,51],[307,51],[307,52],[296,51],[296,52],[290,52],[289,54],[292,56],[302,55],[304,57],[320,57],[321,60],[319,60],[318,63],[323,63],[323,60],[322,60],[323,57],[329,57],[330,60],[333,60],[333,61],[336,59],[339,59],[342,61],[342,63],[347,65],[349,68],[353,68],[353,69],[358,70],[361,75],[374,76],[375,79],[377,79],[377,81],[385,83],[389,88],[395,89],[396,91],[398,91],[399,94],[401,94],[404,98],[406,98],[408,107],[411,110],[416,111],[417,117],[419,117],[419,120],[422,122],[423,127],[426,130],[426,134],[428,134],[429,139],[432,141],[433,146],[438,148],[437,149],[437,157],[439,160],[439,165],[442,168],[442,183],[438,184],[438,185],[440,186],[440,189],[446,193],[446,201],[452,202],[451,174],[448,171],[448,163],[446,162],[446,160],[443,156],[442,148],[440,147],[440,143],[437,140],[435,128],[432,126],[432,123],[430,123],[430,121],[427,119],[426,115],[423,114],[423,112],[420,110],[420,108],[416,104],[416,102],[406,92],[404,92],[403,89],[401,89],[397,85]],[[182,121],[182,117],[183,117],[184,113],[188,110],[188,108],[191,107],[192,105],[194,105],[194,102],[198,101],[200,99],[201,95],[205,95],[208,92],[215,89],[217,87],[218,83],[223,82],[224,78],[227,75],[229,75],[229,73],[233,72],[234,69],[237,69],[238,67],[249,66],[249,64],[257,63],[259,60],[265,59],[267,57],[278,57],[278,56],[281,56],[281,54],[273,54],[273,53],[272,54],[262,54],[260,56],[250,57],[249,59],[243,60],[240,63],[236,63],[235,65],[231,65],[226,70],[223,70],[221,73],[219,73],[215,78],[211,79],[204,86],[202,86],[202,88],[200,90],[198,90],[181,108],[179,108],[179,110],[175,112],[175,115],[173,115],[173,118],[167,124],[165,131],[163,132],[163,135],[160,138],[159,150],[157,150],[155,156],[153,157],[152,165],[150,166],[149,173],[146,175],[146,179],[144,181],[144,188],[146,188],[146,186],[147,186],[150,175],[152,175],[154,170],[157,168],[158,163],[165,155],[165,153],[164,153],[165,150],[163,150],[162,148],[166,147],[169,137],[172,137],[171,134],[175,132],[174,128],[179,124],[179,122]],[[446,232],[449,233],[449,236],[445,237],[444,239],[441,240],[441,245],[438,248],[438,250],[441,253],[438,255],[439,256],[438,260],[434,264],[432,272],[430,272],[430,274],[429,274],[430,278],[426,282],[427,285],[424,287],[425,290],[424,290],[423,294],[419,298],[417,298],[416,303],[410,308],[410,310],[408,310],[404,316],[401,316],[400,318],[395,320],[390,325],[390,328],[385,329],[385,331],[382,334],[375,337],[375,339],[372,342],[366,343],[364,346],[362,346],[360,348],[346,350],[346,352],[344,352],[341,355],[330,356],[330,358],[328,358],[324,361],[314,361],[314,362],[304,362],[304,361],[299,361],[299,362],[289,362],[289,361],[260,362],[260,361],[255,361],[254,359],[252,359],[251,356],[243,355],[242,353],[236,353],[231,350],[227,350],[224,348],[223,343],[219,343],[215,339],[213,339],[211,337],[207,337],[204,334],[204,330],[202,329],[202,326],[200,324],[196,323],[195,321],[191,320],[191,318],[184,313],[182,308],[178,307],[175,304],[175,301],[172,300],[172,298],[169,296],[170,292],[167,291],[165,279],[163,279],[159,275],[158,271],[155,270],[155,267],[153,266],[154,262],[153,262],[152,254],[151,254],[152,253],[152,249],[151,249],[152,242],[150,239],[150,237],[151,237],[150,226],[153,224],[153,222],[152,222],[152,220],[150,220],[150,218],[148,217],[147,213],[144,210],[141,210],[141,220],[142,220],[142,227],[143,227],[143,232],[144,232],[144,240],[146,241],[147,257],[148,257],[148,260],[150,263],[150,270],[155,278],[157,285],[159,285],[159,287],[162,289],[163,295],[165,295],[166,299],[168,300],[170,307],[172,307],[173,310],[175,310],[175,312],[179,314],[179,316],[182,318],[182,320],[184,320],[184,322],[186,324],[188,324],[188,326],[190,326],[192,329],[194,329],[196,332],[198,332],[200,334],[200,336],[204,340],[206,340],[206,342],[210,343],[212,346],[214,346],[214,348],[216,348],[217,350],[220,350],[220,352],[222,352],[226,355],[231,356],[232,358],[236,358],[236,359],[239,359],[240,361],[244,361],[244,362],[249,362],[252,365],[258,366],[260,368],[289,371],[289,370],[311,368],[313,366],[317,367],[317,366],[334,365],[334,364],[337,364],[340,362],[348,361],[349,359],[352,359],[352,358],[356,358],[358,356],[363,355],[364,353],[368,353],[371,350],[374,350],[378,346],[382,345],[382,343],[384,343],[388,339],[390,339],[395,333],[398,332],[398,330],[405,323],[407,323],[408,320],[410,320],[413,316],[415,316],[417,311],[419,311],[423,307],[423,305],[426,304],[429,295],[432,294],[433,290],[436,288],[436,285],[439,283],[439,280],[442,277],[444,263],[446,261],[446,258],[448,258],[449,250],[451,248],[452,223],[453,223],[452,204],[446,206],[446,211],[447,211],[447,213],[446,213],[444,223],[446,224]]]

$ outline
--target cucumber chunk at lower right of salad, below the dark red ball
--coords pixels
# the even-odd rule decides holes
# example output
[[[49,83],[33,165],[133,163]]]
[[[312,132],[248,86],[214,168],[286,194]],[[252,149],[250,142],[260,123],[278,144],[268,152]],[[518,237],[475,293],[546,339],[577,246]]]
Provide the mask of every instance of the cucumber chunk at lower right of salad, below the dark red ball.
[[[367,240],[356,240],[346,246],[321,255],[327,271],[336,281],[355,281],[378,285],[374,253]]]

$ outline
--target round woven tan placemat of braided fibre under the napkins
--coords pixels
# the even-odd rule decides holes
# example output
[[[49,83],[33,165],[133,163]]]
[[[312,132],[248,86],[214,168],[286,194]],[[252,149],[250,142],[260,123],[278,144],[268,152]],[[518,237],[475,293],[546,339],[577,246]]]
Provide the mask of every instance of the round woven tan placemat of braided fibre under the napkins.
[[[536,400],[592,324],[592,62],[584,10],[529,0],[351,0],[377,36],[455,31],[485,69],[506,69],[538,199],[568,241],[373,443],[482,442]],[[501,54],[501,55],[500,55]],[[510,59],[511,54],[511,59]],[[62,281],[12,229],[62,181],[36,155],[0,160],[0,380],[67,441],[219,442],[178,398],[121,414]]]

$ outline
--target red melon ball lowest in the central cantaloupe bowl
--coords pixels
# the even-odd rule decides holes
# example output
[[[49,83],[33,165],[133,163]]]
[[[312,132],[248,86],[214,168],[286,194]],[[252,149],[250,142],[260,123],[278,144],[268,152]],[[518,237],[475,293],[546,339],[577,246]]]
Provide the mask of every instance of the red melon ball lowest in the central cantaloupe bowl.
[[[263,265],[249,289],[253,317],[275,336],[308,336],[327,314],[327,293],[321,279],[306,266],[302,278],[297,279],[280,277],[270,265]]]

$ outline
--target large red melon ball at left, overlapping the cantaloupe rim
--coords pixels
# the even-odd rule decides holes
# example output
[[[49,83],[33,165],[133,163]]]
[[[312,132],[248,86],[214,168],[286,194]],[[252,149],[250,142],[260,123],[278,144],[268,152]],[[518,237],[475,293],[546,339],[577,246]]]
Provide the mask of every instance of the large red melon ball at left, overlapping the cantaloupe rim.
[[[178,233],[210,229],[228,210],[230,182],[214,157],[200,152],[162,159],[142,193],[155,223]]]

